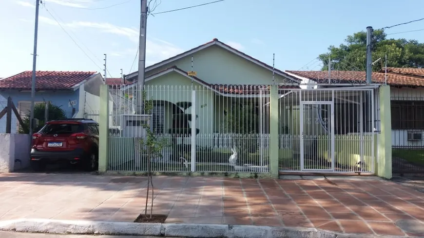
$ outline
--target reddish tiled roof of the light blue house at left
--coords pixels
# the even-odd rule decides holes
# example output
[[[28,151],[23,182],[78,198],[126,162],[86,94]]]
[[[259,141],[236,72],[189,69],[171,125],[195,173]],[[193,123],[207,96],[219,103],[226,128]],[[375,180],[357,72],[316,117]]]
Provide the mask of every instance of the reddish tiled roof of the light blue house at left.
[[[69,90],[96,74],[95,71],[36,71],[36,90]],[[31,90],[32,71],[0,80],[0,89]]]

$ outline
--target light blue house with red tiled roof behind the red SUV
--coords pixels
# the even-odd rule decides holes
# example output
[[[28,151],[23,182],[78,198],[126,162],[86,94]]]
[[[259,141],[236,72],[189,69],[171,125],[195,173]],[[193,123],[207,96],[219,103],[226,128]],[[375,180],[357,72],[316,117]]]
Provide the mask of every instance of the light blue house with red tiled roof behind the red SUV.
[[[32,71],[0,80],[0,96],[11,97],[21,117],[30,113],[31,81]],[[60,106],[68,118],[82,118],[86,111],[98,111],[99,87],[103,84],[102,76],[96,72],[37,71],[35,103],[50,102]],[[5,123],[3,120],[1,124]],[[14,123],[12,131],[16,130]]]

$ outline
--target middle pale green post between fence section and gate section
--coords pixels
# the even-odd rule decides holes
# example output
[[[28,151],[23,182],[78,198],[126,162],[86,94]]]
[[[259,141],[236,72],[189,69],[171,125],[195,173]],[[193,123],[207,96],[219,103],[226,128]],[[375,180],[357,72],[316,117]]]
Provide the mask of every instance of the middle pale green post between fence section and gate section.
[[[270,172],[273,178],[278,178],[278,86],[270,88]]]

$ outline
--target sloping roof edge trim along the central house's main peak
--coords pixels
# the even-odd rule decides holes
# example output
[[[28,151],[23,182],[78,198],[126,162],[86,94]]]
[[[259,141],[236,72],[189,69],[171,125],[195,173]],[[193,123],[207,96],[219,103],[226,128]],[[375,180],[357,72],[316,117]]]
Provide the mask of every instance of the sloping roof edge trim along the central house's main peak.
[[[270,66],[270,65],[268,65],[268,64],[266,64],[266,63],[264,63],[264,62],[262,62],[262,61],[260,61],[258,59],[255,59],[255,58],[251,57],[250,55],[247,55],[247,54],[245,54],[245,53],[243,53],[241,51],[238,51],[238,50],[232,48],[231,46],[229,46],[229,45],[227,45],[227,44],[219,41],[217,38],[214,38],[212,41],[210,41],[210,42],[208,42],[206,44],[200,45],[200,46],[195,47],[195,48],[193,48],[191,50],[188,50],[188,51],[185,51],[183,53],[177,54],[177,55],[175,55],[175,56],[173,56],[173,57],[171,57],[169,59],[163,60],[161,62],[158,62],[158,63],[154,64],[154,65],[151,65],[151,66],[149,66],[149,67],[146,68],[146,73],[148,71],[151,71],[151,70],[154,70],[154,69],[163,67],[163,66],[165,66],[167,64],[171,64],[174,61],[177,61],[177,60],[182,59],[184,57],[190,56],[190,55],[192,55],[195,52],[202,51],[202,50],[207,49],[207,48],[210,48],[212,46],[217,46],[217,47],[220,47],[220,48],[222,48],[222,49],[224,49],[226,51],[229,51],[229,52],[231,52],[231,53],[233,53],[233,54],[235,54],[235,55],[237,55],[239,57],[242,57],[242,58],[250,61],[251,63],[254,63],[254,64],[256,64],[256,65],[258,65],[260,67],[263,67],[263,68],[266,68],[266,69],[270,70],[270,72],[274,71],[275,74],[278,74],[278,75],[281,75],[281,76],[283,76],[285,78],[288,78],[290,81],[293,81],[293,83],[299,83],[300,82],[298,79],[292,77],[291,75],[289,75],[289,74],[287,74],[287,73],[285,73],[285,72],[283,72],[283,71],[281,71],[281,70],[279,70],[277,68],[273,68],[272,66]],[[138,74],[138,72],[133,72],[131,74],[128,74],[127,75],[127,78],[133,78],[137,74]]]

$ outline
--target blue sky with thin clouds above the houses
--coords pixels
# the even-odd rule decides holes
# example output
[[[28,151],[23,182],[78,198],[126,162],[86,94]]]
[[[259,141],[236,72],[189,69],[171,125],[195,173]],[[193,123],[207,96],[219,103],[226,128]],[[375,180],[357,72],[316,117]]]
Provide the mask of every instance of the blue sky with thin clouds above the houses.
[[[0,78],[32,70],[35,0],[0,0]],[[159,2],[160,0],[158,0]],[[162,0],[153,14],[213,0]],[[137,70],[140,0],[43,0],[37,70]],[[400,4],[407,4],[405,10]],[[417,6],[417,7],[410,7]],[[316,57],[347,35],[424,17],[422,0],[224,0],[147,19],[146,66],[213,38],[280,70],[319,70]],[[424,29],[424,21],[387,34]],[[391,34],[424,42],[424,31]]]

